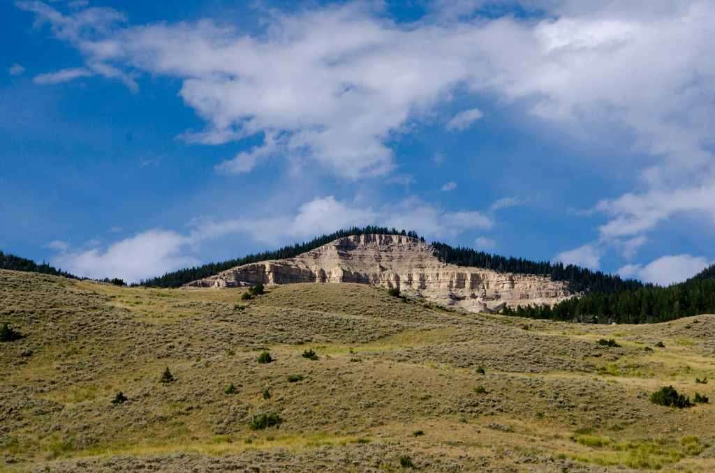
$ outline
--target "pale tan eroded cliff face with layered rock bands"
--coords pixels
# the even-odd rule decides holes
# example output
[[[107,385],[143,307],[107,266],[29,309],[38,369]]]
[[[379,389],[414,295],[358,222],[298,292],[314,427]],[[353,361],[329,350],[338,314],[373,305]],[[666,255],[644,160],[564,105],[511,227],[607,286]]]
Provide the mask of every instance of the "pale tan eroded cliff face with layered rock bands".
[[[548,277],[444,264],[430,245],[400,235],[340,238],[295,258],[245,264],[187,286],[240,287],[259,282],[398,287],[405,294],[471,312],[493,312],[504,304],[555,304],[570,297],[566,284]]]

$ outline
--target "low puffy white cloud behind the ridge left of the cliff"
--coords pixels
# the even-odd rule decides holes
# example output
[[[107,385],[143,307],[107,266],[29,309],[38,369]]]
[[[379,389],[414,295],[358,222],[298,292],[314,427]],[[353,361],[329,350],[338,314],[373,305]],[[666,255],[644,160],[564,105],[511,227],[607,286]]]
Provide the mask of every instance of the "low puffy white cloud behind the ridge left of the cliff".
[[[152,229],[109,245],[107,249],[66,252],[51,259],[52,264],[79,276],[104,279],[119,277],[127,282],[163,274],[198,264],[182,255],[187,238],[173,231]]]

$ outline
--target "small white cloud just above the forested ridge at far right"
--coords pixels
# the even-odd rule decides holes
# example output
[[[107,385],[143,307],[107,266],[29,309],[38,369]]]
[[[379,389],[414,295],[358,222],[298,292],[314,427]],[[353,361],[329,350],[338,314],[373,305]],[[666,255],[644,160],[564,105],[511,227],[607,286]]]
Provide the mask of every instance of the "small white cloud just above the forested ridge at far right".
[[[713,263],[705,257],[677,254],[660,257],[645,266],[626,264],[626,266],[618,269],[618,274],[621,277],[634,277],[644,282],[667,286],[676,282],[683,282]]]

